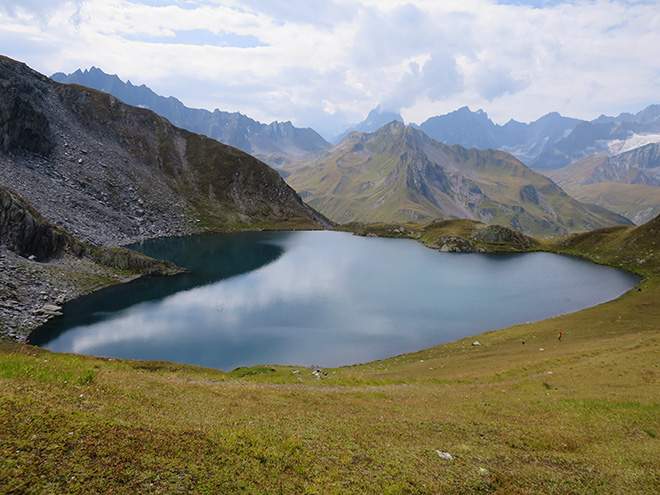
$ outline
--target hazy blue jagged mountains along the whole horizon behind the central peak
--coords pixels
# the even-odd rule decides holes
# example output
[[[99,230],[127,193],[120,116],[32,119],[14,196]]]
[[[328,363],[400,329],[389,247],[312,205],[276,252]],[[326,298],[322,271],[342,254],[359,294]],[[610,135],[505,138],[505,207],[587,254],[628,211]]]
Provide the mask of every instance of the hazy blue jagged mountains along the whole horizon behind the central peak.
[[[234,146],[274,167],[331,146],[313,129],[298,128],[291,122],[263,124],[238,112],[188,108],[174,97],[159,96],[145,85],[123,82],[96,67],[72,74],[58,72],[51,78],[98,89],[130,105],[148,108],[176,126]],[[375,132],[393,120],[404,122],[400,114],[377,107],[333,142],[353,131]],[[591,122],[552,112],[529,124],[510,120],[505,125],[495,124],[482,110],[473,112],[463,107],[411,125],[445,144],[500,149],[532,168],[552,170],[593,153],[616,154],[635,145],[660,142],[660,105],[651,105],[637,114],[601,115]]]

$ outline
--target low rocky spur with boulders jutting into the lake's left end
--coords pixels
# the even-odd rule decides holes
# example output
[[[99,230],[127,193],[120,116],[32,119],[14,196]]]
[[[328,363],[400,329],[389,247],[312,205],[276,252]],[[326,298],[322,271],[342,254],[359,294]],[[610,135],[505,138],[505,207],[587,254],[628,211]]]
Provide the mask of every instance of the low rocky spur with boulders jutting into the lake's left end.
[[[96,288],[90,284],[120,282],[126,272],[181,270],[128,249],[86,245],[0,186],[0,340],[24,341],[64,301]]]

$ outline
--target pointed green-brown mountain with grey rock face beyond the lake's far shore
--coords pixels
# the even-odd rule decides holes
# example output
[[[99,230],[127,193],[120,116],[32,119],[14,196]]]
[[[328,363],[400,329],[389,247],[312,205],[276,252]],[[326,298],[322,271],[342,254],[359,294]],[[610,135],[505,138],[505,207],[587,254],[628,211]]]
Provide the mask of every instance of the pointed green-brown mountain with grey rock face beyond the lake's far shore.
[[[509,153],[448,146],[398,121],[352,132],[287,171],[308,204],[340,223],[470,218],[546,237],[630,224]]]

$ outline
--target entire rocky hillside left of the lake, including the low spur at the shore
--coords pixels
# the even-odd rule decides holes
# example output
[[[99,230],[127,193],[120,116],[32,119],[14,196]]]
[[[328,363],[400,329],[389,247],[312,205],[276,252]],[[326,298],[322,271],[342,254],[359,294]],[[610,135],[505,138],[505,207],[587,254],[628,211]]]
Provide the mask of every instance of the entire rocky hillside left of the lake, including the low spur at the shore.
[[[330,225],[256,158],[6,57],[0,187],[0,337],[24,339],[43,320],[45,303],[56,311],[127,276],[171,268],[108,247]]]

